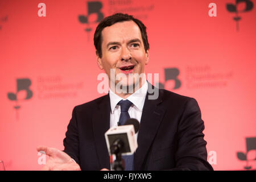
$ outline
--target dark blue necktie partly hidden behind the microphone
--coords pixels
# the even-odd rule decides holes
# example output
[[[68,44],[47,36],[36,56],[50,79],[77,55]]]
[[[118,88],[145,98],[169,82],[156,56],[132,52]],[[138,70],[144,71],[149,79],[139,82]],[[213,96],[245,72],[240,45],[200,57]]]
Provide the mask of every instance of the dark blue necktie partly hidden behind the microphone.
[[[120,125],[124,125],[125,122],[127,121],[127,119],[130,118],[128,110],[132,104],[133,103],[131,103],[129,100],[121,100],[118,102],[118,105],[121,106],[121,114],[120,114],[120,118],[119,118]],[[134,155],[125,155],[125,156],[122,156],[122,158],[123,158],[123,160],[125,160],[125,171],[133,171],[134,170],[134,166],[133,166]]]

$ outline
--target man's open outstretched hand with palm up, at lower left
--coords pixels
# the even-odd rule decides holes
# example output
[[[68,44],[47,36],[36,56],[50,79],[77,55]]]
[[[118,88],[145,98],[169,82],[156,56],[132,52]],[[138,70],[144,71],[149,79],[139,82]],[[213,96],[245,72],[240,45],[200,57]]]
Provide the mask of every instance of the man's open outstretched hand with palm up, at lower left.
[[[42,168],[44,171],[81,171],[79,164],[63,151],[46,146],[38,146],[36,150],[44,151],[49,156],[46,165]]]

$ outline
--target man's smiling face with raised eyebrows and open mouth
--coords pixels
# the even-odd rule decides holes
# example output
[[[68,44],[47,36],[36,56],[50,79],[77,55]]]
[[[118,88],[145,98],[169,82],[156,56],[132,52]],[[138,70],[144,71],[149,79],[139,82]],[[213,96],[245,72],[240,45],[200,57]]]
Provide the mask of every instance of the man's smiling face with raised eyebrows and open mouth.
[[[148,51],[144,49],[141,30],[133,21],[118,22],[105,27],[101,32],[102,57],[97,57],[98,66],[104,69],[110,78],[110,69],[125,74],[127,81],[122,85],[137,85],[139,79],[128,79],[129,73],[144,73],[144,66],[148,63]],[[110,78],[117,84],[119,80]]]

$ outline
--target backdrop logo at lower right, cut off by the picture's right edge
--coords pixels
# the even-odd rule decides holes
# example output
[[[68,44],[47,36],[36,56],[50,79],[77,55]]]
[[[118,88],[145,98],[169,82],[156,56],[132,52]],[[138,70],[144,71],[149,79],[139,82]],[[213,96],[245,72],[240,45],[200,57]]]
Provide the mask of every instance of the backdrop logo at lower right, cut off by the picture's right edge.
[[[252,159],[249,156],[249,151],[256,150],[256,137],[253,138],[246,138],[246,152],[237,152],[237,158],[240,160],[246,160],[246,166],[245,169],[249,170],[251,169],[251,166],[249,166],[250,161],[256,160],[256,156],[253,156]]]

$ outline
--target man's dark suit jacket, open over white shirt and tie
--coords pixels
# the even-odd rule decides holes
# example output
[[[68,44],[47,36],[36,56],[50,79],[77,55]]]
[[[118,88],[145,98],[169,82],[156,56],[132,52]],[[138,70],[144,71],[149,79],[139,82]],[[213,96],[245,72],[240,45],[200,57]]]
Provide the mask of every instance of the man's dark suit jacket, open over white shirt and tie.
[[[150,86],[150,85],[148,85]],[[110,127],[109,94],[73,109],[64,152],[82,170],[110,169],[105,132]],[[212,170],[207,162],[204,122],[195,99],[159,89],[144,102],[135,170]]]

